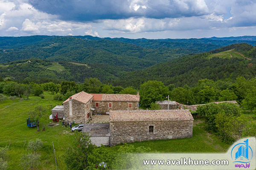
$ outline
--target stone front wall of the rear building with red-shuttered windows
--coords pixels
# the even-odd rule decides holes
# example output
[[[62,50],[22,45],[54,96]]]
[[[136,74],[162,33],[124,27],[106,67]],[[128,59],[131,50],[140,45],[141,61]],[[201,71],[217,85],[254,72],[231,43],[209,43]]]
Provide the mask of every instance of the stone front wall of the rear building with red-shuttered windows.
[[[96,107],[95,103],[99,103],[99,107]],[[112,103],[112,108],[108,107],[108,103]],[[132,107],[129,108],[129,103],[132,103]],[[138,109],[139,102],[108,102],[108,101],[93,101],[93,108],[95,113],[103,113],[109,111],[133,111]]]

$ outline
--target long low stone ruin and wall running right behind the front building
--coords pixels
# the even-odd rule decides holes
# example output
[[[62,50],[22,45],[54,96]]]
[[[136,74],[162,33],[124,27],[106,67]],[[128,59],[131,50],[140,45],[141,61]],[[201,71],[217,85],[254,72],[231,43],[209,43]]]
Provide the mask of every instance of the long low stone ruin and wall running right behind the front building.
[[[160,107],[162,109],[168,109],[168,101],[165,100],[165,101],[157,101],[156,102],[157,104],[160,105]],[[237,104],[238,103],[236,102],[236,100],[233,100],[233,101],[222,101],[222,102],[211,102],[211,103],[234,103],[234,104]],[[196,111],[196,109],[198,108],[198,106],[202,106],[202,105],[208,105],[209,103],[207,104],[201,104],[201,105],[183,105],[183,104],[180,104],[178,102],[175,102],[175,101],[169,101],[169,109],[189,109],[191,111]]]

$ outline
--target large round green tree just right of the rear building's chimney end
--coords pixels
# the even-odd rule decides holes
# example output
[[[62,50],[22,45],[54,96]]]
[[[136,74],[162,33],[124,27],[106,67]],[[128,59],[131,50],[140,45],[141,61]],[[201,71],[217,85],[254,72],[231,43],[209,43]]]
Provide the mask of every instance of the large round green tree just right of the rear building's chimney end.
[[[152,102],[166,99],[169,89],[163,82],[148,81],[140,86],[140,102],[143,106],[149,106]]]

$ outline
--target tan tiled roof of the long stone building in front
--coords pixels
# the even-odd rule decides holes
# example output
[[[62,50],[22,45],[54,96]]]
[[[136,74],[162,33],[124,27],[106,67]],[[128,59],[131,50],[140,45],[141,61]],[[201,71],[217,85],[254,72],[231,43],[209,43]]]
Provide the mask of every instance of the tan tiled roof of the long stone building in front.
[[[110,111],[109,122],[194,120],[189,110]]]

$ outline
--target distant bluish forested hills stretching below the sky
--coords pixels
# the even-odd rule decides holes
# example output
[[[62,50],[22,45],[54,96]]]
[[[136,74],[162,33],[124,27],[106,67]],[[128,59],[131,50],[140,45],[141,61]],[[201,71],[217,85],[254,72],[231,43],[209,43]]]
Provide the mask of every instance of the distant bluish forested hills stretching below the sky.
[[[207,39],[127,39],[92,36],[0,37],[0,63],[21,59],[102,63],[123,71],[143,69],[185,54],[256,41]]]

